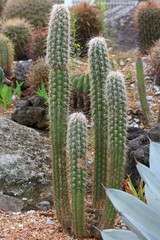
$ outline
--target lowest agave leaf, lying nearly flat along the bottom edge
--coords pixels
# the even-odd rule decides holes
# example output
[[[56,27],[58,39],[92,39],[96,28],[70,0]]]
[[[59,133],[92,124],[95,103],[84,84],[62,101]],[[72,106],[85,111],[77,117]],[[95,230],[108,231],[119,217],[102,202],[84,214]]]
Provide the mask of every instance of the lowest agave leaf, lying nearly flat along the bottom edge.
[[[127,230],[102,230],[103,240],[140,240],[134,233]]]

